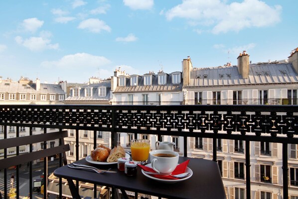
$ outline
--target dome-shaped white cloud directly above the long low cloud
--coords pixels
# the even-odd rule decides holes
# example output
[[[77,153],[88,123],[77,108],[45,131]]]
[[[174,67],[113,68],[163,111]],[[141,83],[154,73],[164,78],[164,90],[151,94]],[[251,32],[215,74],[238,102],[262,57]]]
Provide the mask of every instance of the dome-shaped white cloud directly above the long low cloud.
[[[87,29],[90,32],[99,33],[102,30],[106,30],[108,32],[111,31],[110,26],[108,26],[105,21],[99,20],[97,18],[89,18],[80,22],[78,28]]]

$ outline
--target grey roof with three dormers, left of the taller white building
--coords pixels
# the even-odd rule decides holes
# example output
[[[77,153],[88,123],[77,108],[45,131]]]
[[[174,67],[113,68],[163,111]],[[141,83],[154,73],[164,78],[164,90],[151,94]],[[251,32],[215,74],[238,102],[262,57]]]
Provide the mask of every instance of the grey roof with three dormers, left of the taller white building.
[[[92,87],[92,97],[85,97],[85,89]],[[106,87],[106,96],[100,97],[98,95],[99,87]],[[111,92],[111,80],[110,81],[103,81],[96,84],[84,85],[80,87],[80,96],[73,97],[69,96],[66,98],[65,101],[105,101],[110,100],[110,92]]]

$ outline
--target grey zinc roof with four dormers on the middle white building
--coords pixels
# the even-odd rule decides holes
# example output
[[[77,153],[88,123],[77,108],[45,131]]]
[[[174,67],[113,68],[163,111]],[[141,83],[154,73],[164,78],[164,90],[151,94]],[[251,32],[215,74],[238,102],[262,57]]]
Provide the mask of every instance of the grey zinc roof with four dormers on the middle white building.
[[[151,74],[151,75],[152,75],[151,85],[144,85],[144,75],[143,75],[143,76],[139,76],[137,86],[131,86],[130,79],[128,78],[126,81],[126,86],[117,86],[114,92],[116,93],[116,92],[182,91],[182,81],[180,84],[172,84],[171,74],[166,74],[166,84],[164,85],[158,85],[157,74]]]

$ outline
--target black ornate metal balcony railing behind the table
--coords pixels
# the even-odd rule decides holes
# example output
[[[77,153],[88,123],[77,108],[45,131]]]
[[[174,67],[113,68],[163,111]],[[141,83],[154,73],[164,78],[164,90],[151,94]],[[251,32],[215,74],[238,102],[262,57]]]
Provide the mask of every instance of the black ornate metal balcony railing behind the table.
[[[117,145],[117,133],[135,136],[162,135],[183,137],[179,143],[187,156],[189,138],[212,139],[212,159],[217,161],[218,139],[240,140],[245,145],[246,198],[251,198],[250,142],[271,142],[283,145],[283,195],[288,198],[288,144],[298,144],[298,106],[282,105],[168,105],[168,106],[92,106],[92,105],[1,105],[0,125],[4,139],[9,126],[49,129],[74,129],[75,154],[79,159],[79,130],[111,132],[112,147]],[[17,134],[18,136],[18,134]],[[94,139],[94,146],[97,146]],[[179,150],[181,150],[181,148]],[[3,158],[7,157],[7,149]],[[45,163],[46,165],[46,163]],[[60,160],[60,166],[62,160]],[[30,163],[32,167],[32,163]],[[16,170],[16,195],[19,198],[19,178]],[[7,170],[4,170],[4,198],[7,195]],[[32,169],[29,172],[32,185]],[[253,175],[254,176],[254,175]],[[47,176],[44,175],[45,182]],[[30,189],[30,198],[32,198]],[[44,187],[47,192],[47,187]],[[96,189],[94,191],[96,196]],[[46,194],[44,195],[46,198]],[[62,198],[62,192],[60,192]]]

